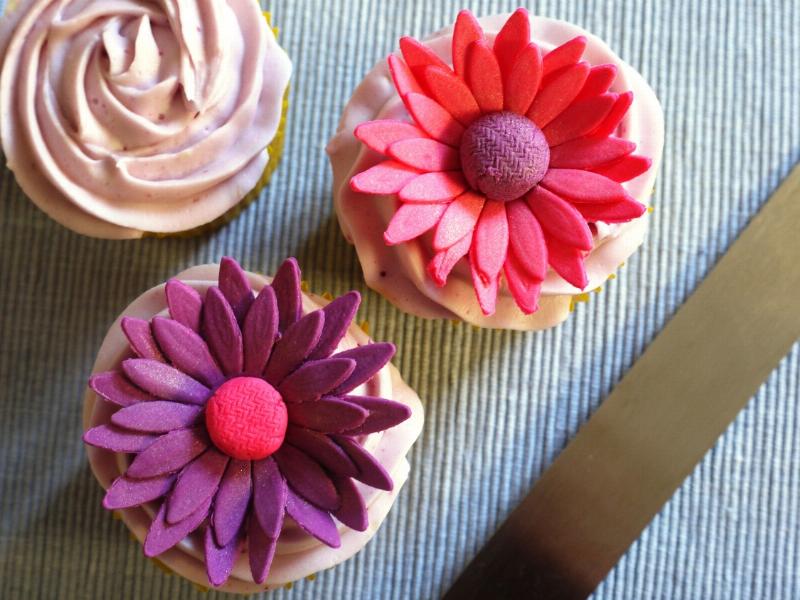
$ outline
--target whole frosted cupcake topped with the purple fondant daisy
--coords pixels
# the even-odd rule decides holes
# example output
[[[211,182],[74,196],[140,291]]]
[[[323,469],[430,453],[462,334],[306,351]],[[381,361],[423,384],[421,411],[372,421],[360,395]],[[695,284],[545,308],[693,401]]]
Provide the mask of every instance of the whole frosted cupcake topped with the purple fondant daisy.
[[[100,348],[89,462],[148,557],[252,593],[346,560],[408,477],[422,406],[395,348],[352,323],[357,292],[304,294],[231,259],[145,292]]]

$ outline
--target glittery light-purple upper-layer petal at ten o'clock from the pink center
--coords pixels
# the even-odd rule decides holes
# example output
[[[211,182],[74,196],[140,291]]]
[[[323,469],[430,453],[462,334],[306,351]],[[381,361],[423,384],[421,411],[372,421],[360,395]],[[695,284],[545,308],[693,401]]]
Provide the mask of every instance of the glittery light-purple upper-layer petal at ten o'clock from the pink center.
[[[129,358],[122,361],[122,370],[133,383],[164,400],[205,404],[211,394],[202,383],[157,360]]]

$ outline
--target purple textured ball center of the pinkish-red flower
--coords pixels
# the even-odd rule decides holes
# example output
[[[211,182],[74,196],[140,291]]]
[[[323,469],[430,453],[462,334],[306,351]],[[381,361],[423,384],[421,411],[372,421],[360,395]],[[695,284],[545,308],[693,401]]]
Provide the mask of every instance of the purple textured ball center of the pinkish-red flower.
[[[547,173],[550,147],[533,121],[512,112],[475,120],[461,140],[461,167],[469,184],[491,200],[524,195]]]

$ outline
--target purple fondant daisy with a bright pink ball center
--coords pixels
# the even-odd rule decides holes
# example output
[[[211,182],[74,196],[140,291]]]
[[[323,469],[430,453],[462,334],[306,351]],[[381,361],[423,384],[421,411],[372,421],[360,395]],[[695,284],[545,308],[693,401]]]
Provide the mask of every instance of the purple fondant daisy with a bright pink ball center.
[[[334,548],[334,519],[364,531],[354,480],[382,490],[392,480],[362,441],[410,410],[351,394],[394,354],[387,343],[337,352],[358,293],[303,315],[294,259],[256,296],[227,258],[205,298],[176,279],[165,292],[169,317],[123,318],[135,357],[89,382],[119,409],[85,442],[131,455],[104,506],[157,502],[147,556],[202,530],[215,586],[245,545],[253,579],[267,578],[285,515]]]

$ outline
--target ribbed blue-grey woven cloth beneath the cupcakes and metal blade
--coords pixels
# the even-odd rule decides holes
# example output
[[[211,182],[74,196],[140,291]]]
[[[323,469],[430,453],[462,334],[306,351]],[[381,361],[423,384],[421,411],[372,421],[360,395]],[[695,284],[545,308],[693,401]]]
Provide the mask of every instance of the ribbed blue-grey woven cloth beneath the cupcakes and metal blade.
[[[80,414],[118,312],[225,254],[265,272],[294,255],[315,290],[364,293],[359,318],[397,343],[395,362],[427,410],[411,478],[372,543],[269,597],[441,595],[800,160],[797,0],[537,2],[532,11],[607,40],[664,105],[646,244],[546,333],[399,313],[365,288],[340,235],[324,146],[350,91],[401,35],[438,29],[464,4],[490,14],[519,1],[275,0],[295,65],[284,160],[260,201],[207,237],[83,238],[2,170],[0,598],[221,597],[162,573],[101,508]],[[795,346],[596,598],[800,598],[799,401]]]

